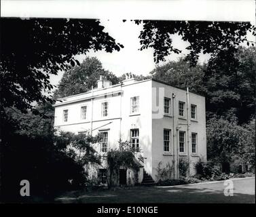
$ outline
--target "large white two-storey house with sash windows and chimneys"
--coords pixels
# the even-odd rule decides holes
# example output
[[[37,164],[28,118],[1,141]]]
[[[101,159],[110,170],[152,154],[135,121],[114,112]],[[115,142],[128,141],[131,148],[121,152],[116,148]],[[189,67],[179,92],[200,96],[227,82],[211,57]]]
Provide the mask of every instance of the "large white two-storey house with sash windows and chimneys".
[[[154,79],[136,81],[132,75],[117,85],[100,76],[98,87],[84,94],[60,99],[55,106],[54,127],[76,134],[100,133],[103,141],[95,146],[103,156],[117,149],[119,140],[129,141],[141,150],[144,160],[136,174],[120,168],[119,182],[143,181],[143,171],[155,182],[161,166],[172,167],[172,178],[179,177],[180,159],[189,162],[188,174],[195,174],[194,163],[206,159],[205,98]],[[105,182],[106,162],[92,174]],[[125,183],[126,182],[126,183]]]

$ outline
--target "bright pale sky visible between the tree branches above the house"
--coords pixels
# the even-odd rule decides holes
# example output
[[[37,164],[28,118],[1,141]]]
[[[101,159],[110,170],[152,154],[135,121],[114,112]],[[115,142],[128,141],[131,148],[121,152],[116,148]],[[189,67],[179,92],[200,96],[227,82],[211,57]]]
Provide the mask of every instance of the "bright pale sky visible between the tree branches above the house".
[[[105,26],[104,31],[109,33],[117,43],[122,43],[124,48],[120,52],[107,53],[105,51],[99,52],[89,52],[86,55],[75,56],[75,59],[82,62],[86,56],[95,56],[103,64],[103,68],[111,71],[115,75],[121,76],[124,73],[133,73],[135,75],[148,75],[149,72],[156,67],[156,64],[153,61],[153,49],[149,48],[147,50],[139,50],[141,47],[139,43],[139,34],[142,30],[142,25],[136,25],[134,22],[126,21],[123,22],[120,20],[100,20],[100,24]],[[177,60],[181,56],[187,54],[185,47],[189,43],[183,41],[179,35],[174,35],[172,37],[172,43],[174,47],[177,47],[181,50],[181,54],[170,54],[166,56],[166,61],[168,60]],[[205,62],[208,60],[208,55],[200,55],[200,62]],[[164,62],[159,63],[164,64]],[[60,81],[63,72],[60,72],[58,75],[52,75],[50,81],[52,84],[57,85]]]

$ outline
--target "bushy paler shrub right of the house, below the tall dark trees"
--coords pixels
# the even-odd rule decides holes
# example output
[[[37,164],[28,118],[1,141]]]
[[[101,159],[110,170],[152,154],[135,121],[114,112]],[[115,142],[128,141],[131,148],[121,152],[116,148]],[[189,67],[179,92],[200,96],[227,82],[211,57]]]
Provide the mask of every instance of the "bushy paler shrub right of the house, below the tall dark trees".
[[[240,126],[236,120],[227,120],[225,117],[213,117],[207,121],[207,156],[208,159],[219,163],[232,163],[235,159],[240,163],[253,161],[252,151],[255,151],[255,127],[250,125]],[[255,137],[255,136],[254,136]]]

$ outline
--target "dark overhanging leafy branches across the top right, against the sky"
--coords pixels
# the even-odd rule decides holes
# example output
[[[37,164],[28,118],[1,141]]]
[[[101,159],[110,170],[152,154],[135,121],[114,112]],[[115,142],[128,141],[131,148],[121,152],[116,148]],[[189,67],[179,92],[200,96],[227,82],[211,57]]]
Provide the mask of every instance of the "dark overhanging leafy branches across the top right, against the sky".
[[[186,60],[196,65],[200,52],[211,54],[211,59],[225,50],[234,52],[240,43],[247,41],[247,31],[256,28],[249,22],[202,22],[202,21],[163,21],[163,20],[135,20],[136,24],[143,24],[139,35],[141,50],[152,47],[156,63],[164,61],[169,54],[180,54],[181,50],[172,45],[172,35],[181,35],[183,41],[189,42],[186,49],[189,54]],[[247,41],[248,42],[248,41]],[[249,43],[249,42],[248,42]],[[253,44],[254,45],[254,44]]]

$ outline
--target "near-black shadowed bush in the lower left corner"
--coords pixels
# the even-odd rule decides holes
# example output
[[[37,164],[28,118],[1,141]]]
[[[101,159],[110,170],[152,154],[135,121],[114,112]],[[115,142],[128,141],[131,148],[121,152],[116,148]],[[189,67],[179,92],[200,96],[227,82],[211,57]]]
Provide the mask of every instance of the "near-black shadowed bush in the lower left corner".
[[[1,119],[2,201],[26,200],[20,196],[21,180],[29,180],[33,197],[52,198],[60,191],[83,186],[86,180],[84,167],[62,147],[54,145],[52,139],[36,134],[28,136],[19,127],[22,129],[15,119]]]

